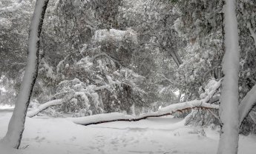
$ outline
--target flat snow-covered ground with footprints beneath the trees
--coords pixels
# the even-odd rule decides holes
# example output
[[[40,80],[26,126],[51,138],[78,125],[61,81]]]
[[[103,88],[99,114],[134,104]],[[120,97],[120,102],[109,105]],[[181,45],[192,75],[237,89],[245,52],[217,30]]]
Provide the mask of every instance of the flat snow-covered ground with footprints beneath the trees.
[[[0,138],[7,131],[10,110],[0,109]],[[163,117],[127,122],[82,126],[68,118],[27,118],[21,147],[17,154],[170,154],[216,153],[219,133],[197,127],[184,127],[180,119]],[[28,146],[28,147],[27,147]],[[9,154],[0,145],[1,154]],[[256,151],[256,137],[240,135],[239,153]]]

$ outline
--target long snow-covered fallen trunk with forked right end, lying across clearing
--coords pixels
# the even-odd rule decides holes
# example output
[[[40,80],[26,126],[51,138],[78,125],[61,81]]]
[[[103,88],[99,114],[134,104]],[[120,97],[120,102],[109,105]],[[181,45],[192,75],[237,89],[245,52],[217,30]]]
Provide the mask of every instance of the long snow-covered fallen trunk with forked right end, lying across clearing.
[[[145,118],[168,116],[176,112],[183,112],[183,110],[196,109],[196,108],[202,108],[206,110],[218,109],[219,105],[209,104],[208,102],[214,96],[214,94],[216,93],[216,90],[220,87],[220,84],[221,84],[221,81],[215,82],[214,85],[212,85],[211,91],[208,93],[208,96],[206,96],[206,98],[203,98],[202,100],[194,100],[194,101],[187,101],[184,103],[171,104],[167,107],[163,107],[160,110],[157,110],[157,112],[145,113],[140,116],[129,116],[123,113],[108,113],[108,114],[99,114],[94,116],[86,116],[81,118],[70,118],[70,120],[73,121],[75,124],[90,125],[90,124],[101,124],[101,123],[106,123],[111,121],[140,121]]]

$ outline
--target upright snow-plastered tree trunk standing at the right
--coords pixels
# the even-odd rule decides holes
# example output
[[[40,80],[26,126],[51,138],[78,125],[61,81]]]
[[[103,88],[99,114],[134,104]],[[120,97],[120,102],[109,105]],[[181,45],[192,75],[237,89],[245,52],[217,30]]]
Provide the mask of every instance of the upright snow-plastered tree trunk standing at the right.
[[[223,57],[223,89],[220,96],[220,141],[218,154],[236,154],[238,147],[238,72],[239,45],[236,1],[226,0],[225,15],[225,47]]]

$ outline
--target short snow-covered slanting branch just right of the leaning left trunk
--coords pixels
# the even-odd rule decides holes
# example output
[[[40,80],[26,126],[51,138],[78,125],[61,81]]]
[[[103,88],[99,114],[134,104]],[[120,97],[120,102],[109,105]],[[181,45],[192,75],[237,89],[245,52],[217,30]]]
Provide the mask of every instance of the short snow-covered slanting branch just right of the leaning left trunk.
[[[31,110],[31,111],[27,112],[27,116],[32,118],[33,116],[36,116],[38,113],[42,112],[43,110],[47,109],[48,107],[55,106],[55,105],[61,105],[61,104],[63,104],[64,101],[65,101],[65,99],[55,99],[53,101],[48,101],[45,104],[39,105],[39,107],[36,108],[36,110]]]

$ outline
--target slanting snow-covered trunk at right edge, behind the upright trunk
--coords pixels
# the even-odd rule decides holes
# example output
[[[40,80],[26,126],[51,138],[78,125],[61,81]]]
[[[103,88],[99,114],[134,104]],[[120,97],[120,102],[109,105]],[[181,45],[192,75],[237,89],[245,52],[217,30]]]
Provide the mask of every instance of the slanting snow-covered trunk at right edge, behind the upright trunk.
[[[249,114],[250,110],[252,110],[252,107],[256,103],[256,85],[252,87],[252,90],[250,90],[246,96],[243,98],[243,100],[240,102],[240,105],[238,107],[238,113],[239,113],[239,126],[242,124],[243,119],[246,118],[246,116]]]

